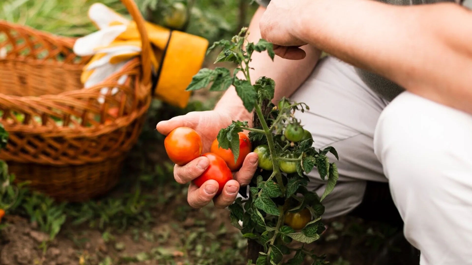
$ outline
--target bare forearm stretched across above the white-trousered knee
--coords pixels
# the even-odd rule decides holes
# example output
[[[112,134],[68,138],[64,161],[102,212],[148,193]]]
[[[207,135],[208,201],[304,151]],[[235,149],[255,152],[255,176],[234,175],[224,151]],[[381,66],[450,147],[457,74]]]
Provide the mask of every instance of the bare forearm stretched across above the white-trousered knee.
[[[295,34],[308,43],[408,91],[472,113],[472,15],[465,8],[304,2],[308,6],[295,18],[300,29]]]

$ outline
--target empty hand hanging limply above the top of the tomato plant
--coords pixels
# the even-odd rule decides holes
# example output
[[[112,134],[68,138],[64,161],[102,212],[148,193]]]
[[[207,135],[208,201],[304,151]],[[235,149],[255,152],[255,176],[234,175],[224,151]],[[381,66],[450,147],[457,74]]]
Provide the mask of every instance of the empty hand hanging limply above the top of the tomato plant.
[[[271,0],[259,22],[261,36],[274,44],[274,52],[281,58],[300,60],[305,58],[305,51],[300,49],[307,44],[297,37],[297,8],[306,0],[287,1]]]

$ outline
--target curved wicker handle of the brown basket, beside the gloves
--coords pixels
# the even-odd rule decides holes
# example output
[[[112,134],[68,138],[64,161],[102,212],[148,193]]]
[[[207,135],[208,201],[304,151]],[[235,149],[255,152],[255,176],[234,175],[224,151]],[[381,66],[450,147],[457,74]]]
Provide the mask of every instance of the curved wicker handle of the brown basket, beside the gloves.
[[[143,85],[147,86],[151,83],[151,42],[149,41],[149,37],[144,26],[144,17],[141,15],[141,12],[136,6],[134,0],[121,0],[121,2],[123,5],[125,5],[131,17],[133,17],[135,20],[139,34],[141,35],[141,67],[143,69],[142,82]]]

